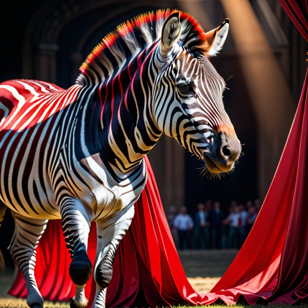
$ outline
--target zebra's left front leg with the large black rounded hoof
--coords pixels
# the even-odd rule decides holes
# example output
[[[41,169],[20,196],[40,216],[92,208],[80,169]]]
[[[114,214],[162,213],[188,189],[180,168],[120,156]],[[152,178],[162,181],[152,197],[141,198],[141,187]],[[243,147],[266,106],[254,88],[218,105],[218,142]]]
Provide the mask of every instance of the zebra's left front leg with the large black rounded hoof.
[[[74,198],[66,198],[61,202],[60,213],[63,233],[72,258],[69,273],[76,285],[71,308],[85,308],[88,301],[84,287],[92,273],[92,264],[87,254],[90,213],[79,200]]]

